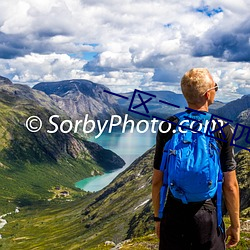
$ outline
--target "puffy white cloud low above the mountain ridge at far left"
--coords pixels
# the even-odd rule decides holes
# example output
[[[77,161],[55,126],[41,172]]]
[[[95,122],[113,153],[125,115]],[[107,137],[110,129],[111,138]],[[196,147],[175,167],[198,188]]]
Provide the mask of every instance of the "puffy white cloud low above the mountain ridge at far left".
[[[74,70],[82,69],[84,60],[71,58],[67,54],[52,53],[39,55],[32,53],[24,57],[0,59],[2,73],[11,75],[14,83],[34,85],[41,81],[58,81],[74,76]]]

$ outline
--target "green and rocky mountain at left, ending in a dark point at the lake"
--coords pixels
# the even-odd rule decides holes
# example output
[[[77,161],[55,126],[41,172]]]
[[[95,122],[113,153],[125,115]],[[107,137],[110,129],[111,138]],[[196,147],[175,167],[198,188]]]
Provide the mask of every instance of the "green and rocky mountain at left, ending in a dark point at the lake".
[[[116,154],[72,133],[53,130],[51,115],[68,116],[45,93],[18,84],[0,85],[0,212],[16,205],[32,204],[52,196],[51,189],[74,189],[75,182],[121,168]],[[39,116],[41,130],[26,128],[30,116]],[[36,123],[32,124],[36,126]]]

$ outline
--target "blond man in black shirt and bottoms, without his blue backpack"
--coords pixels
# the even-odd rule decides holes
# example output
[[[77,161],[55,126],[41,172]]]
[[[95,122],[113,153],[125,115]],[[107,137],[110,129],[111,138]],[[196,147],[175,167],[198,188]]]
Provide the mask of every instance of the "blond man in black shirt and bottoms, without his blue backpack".
[[[214,102],[218,85],[214,82],[207,69],[194,68],[186,72],[183,76],[181,80],[181,89],[188,103],[188,109],[186,110],[187,116],[190,112],[208,114],[208,107]],[[167,120],[171,122],[172,129],[166,134],[158,131],[152,179],[154,220],[156,234],[160,239],[159,249],[223,250],[225,247],[230,248],[236,246],[240,238],[239,187],[236,179],[234,149],[233,146],[230,145],[233,137],[233,130],[229,125],[222,128],[223,133],[218,130],[218,125],[216,125],[214,133],[215,138],[224,139],[214,140],[218,146],[218,162],[220,162],[220,169],[223,173],[223,196],[231,221],[231,225],[227,231],[224,232],[223,222],[218,225],[219,218],[216,206],[218,196],[216,196],[216,190],[215,195],[213,194],[214,196],[209,199],[185,202],[186,199],[182,196],[180,196],[180,198],[177,196],[176,198],[174,188],[168,187],[163,217],[159,218],[161,217],[159,215],[160,193],[161,188],[164,186],[164,172],[160,168],[162,165],[163,151],[165,150],[164,146],[167,142],[171,141],[171,138],[173,138],[176,133],[176,126],[173,124],[177,124],[178,126],[179,122],[178,115],[169,117]],[[167,122],[165,126],[168,128]],[[163,125],[162,131],[164,130]],[[222,138],[222,136],[225,136],[226,139]],[[192,142],[190,141],[190,143]],[[194,162],[196,160],[201,165],[200,167],[203,167],[202,159],[194,158]],[[173,172],[174,166],[171,166],[170,163],[169,169],[172,168],[171,171]],[[190,181],[192,180],[190,179]],[[170,186],[171,185],[174,184],[171,183]],[[217,190],[217,194],[218,192]],[[227,241],[226,244],[225,240]]]

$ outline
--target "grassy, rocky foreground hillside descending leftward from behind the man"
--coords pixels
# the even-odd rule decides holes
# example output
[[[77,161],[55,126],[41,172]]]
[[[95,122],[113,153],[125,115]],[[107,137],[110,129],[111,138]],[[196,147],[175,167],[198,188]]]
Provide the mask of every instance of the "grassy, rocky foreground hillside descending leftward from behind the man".
[[[100,192],[73,202],[28,207],[6,217],[8,224],[0,230],[3,249],[103,250],[111,249],[104,246],[106,240],[117,244],[126,238],[133,240],[121,249],[157,249],[154,236],[142,237],[154,231],[152,203],[138,207],[150,199],[152,157],[150,150]],[[249,238],[249,230],[243,231],[235,249],[247,249]]]

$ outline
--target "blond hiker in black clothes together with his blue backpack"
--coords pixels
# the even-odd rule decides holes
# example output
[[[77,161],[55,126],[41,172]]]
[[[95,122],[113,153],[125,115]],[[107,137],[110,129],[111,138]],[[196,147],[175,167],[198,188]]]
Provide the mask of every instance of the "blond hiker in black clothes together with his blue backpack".
[[[188,103],[187,110],[167,118],[171,123],[171,130],[168,133],[163,133],[165,130],[163,125],[162,132],[158,131],[156,138],[152,200],[155,230],[157,237],[160,239],[159,249],[221,250],[225,249],[225,247],[230,248],[236,246],[240,239],[239,186],[236,179],[234,149],[233,146],[230,146],[233,129],[230,125],[227,125],[222,128],[223,133],[221,133],[217,129],[218,125],[216,124],[214,132],[214,138],[216,139],[213,139],[212,136],[208,137],[204,133],[195,133],[186,129],[189,123],[186,123],[185,127],[178,127],[178,122],[180,120],[183,121],[183,117],[197,116],[200,118],[202,115],[206,118],[211,117],[211,114],[208,113],[208,106],[214,102],[218,85],[214,82],[207,69],[194,68],[183,76],[181,89]],[[165,125],[168,128],[167,122]],[[180,135],[181,132],[175,130],[177,127],[182,129],[179,131],[186,134]],[[222,136],[226,136],[226,139]],[[185,138],[185,140],[181,138]],[[196,141],[200,140],[199,143],[197,144],[193,138],[196,138]],[[217,138],[224,139],[224,141]],[[167,142],[168,145],[166,144]],[[177,142],[180,147],[178,150],[182,150],[181,156],[178,156],[178,150],[176,150],[178,148],[176,146]],[[206,143],[212,145],[209,148],[212,156],[209,156],[207,152],[209,150],[206,150],[206,147],[208,147]],[[174,147],[174,150],[169,149],[170,145]],[[197,150],[197,155],[191,153],[191,155],[187,156],[187,153],[185,153],[186,145],[193,148],[193,151]],[[200,148],[204,148],[202,153],[199,152]],[[218,148],[218,152],[216,152],[216,148]],[[166,153],[163,153],[164,150]],[[164,158],[164,154],[169,155]],[[179,161],[175,158],[177,156],[180,157]],[[190,169],[196,168],[196,171],[200,171],[200,173],[198,172],[198,177],[196,177],[197,175],[194,176],[195,174],[189,177],[188,174],[190,173],[184,171],[182,173],[183,179],[178,184],[177,182],[181,175],[177,171],[181,171],[179,168],[188,168],[187,166]],[[206,180],[199,180],[207,171],[212,171],[211,176],[205,177],[211,178],[211,181],[208,181],[208,183],[206,183]],[[173,180],[176,178],[176,181],[171,181],[171,178]],[[181,187],[184,183],[190,187],[189,190],[193,191],[186,191],[185,188]],[[213,186],[213,188],[210,188],[209,185]],[[203,186],[208,191],[202,191]],[[220,186],[223,188],[223,198],[231,222],[230,227],[226,231],[224,230],[221,215],[220,193],[222,191],[220,189],[222,188]],[[165,190],[165,193],[167,193],[166,203],[162,198],[164,188],[167,188]],[[205,198],[202,199],[201,195]],[[160,201],[160,199],[162,200]]]

